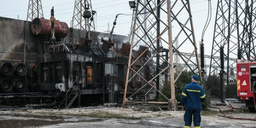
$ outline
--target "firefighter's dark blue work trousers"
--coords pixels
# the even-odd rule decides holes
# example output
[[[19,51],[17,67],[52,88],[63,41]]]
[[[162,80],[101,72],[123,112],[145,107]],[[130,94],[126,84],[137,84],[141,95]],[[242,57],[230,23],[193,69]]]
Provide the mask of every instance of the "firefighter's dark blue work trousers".
[[[185,108],[185,114],[184,114],[184,121],[185,126],[191,126],[192,123],[192,116],[194,121],[194,127],[200,128],[200,122],[201,122],[201,110],[200,109],[188,109]]]

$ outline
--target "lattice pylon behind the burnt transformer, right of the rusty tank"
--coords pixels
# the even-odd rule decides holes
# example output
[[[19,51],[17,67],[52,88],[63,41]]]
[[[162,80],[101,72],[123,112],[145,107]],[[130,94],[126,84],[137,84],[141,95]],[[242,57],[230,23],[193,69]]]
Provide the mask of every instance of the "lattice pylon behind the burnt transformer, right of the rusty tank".
[[[91,0],[75,0],[74,13],[72,17],[72,28],[86,30],[86,26],[90,26],[90,30],[95,31],[94,20],[89,22],[83,18],[85,7],[88,7],[88,10],[93,12]]]

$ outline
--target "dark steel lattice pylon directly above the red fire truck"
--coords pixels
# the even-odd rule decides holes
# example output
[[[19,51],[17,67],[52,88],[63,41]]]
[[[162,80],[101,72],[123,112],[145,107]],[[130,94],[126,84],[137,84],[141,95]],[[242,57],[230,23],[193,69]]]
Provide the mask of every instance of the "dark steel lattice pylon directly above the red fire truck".
[[[241,55],[238,58],[249,60],[255,58],[254,39],[256,38],[256,1],[236,0],[236,17],[238,30],[238,48]]]

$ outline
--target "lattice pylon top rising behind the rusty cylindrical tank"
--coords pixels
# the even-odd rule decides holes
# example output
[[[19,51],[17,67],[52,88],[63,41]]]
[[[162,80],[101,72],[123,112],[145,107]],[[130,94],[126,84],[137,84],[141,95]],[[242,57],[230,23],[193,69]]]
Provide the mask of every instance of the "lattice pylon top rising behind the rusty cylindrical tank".
[[[44,17],[41,0],[29,0],[27,20]]]

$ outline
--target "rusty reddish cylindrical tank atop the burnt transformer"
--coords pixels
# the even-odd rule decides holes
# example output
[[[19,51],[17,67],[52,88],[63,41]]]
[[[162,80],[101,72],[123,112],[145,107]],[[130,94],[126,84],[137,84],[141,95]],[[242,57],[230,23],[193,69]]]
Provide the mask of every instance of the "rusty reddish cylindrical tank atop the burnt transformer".
[[[51,21],[42,18],[34,18],[31,25],[31,31],[35,35],[51,35]],[[55,21],[54,31],[56,38],[65,38],[68,35],[68,24]]]

